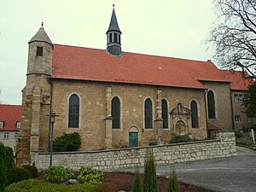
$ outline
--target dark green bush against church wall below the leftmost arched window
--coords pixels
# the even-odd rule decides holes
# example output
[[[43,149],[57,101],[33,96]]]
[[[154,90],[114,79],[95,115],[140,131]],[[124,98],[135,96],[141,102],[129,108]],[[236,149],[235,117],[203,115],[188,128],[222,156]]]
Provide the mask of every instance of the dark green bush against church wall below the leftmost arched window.
[[[82,143],[78,132],[64,133],[61,137],[56,137],[53,142],[54,151],[76,151]]]

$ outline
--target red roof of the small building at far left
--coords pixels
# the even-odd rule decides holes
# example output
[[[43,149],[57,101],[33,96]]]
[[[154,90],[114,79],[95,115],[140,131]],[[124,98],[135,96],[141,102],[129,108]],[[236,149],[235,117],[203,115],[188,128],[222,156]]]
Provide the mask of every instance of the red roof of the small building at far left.
[[[20,105],[0,104],[0,121],[4,121],[4,126],[3,128],[0,128],[0,131],[19,131],[20,128],[16,128],[16,122],[20,120]]]

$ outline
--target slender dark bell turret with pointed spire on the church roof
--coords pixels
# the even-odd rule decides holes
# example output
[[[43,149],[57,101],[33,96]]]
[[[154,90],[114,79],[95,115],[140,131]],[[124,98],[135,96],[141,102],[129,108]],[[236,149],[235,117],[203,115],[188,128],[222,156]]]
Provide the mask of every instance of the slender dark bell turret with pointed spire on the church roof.
[[[114,4],[113,4],[113,12],[111,16],[111,20],[109,23],[108,31],[107,31],[107,50],[108,53],[114,56],[121,56],[121,30],[119,29],[119,24],[116,19]]]

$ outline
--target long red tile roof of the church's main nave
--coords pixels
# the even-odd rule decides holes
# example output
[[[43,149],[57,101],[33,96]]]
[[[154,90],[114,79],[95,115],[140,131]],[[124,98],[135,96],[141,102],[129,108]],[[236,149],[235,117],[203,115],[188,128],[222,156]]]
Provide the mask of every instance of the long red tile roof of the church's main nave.
[[[53,78],[151,84],[204,89],[198,80],[230,82],[212,61],[192,61],[124,52],[121,57],[103,49],[55,44]],[[234,84],[235,86],[235,84]],[[236,87],[236,86],[235,86]],[[244,87],[243,87],[244,88]]]

